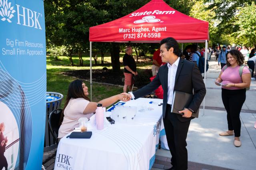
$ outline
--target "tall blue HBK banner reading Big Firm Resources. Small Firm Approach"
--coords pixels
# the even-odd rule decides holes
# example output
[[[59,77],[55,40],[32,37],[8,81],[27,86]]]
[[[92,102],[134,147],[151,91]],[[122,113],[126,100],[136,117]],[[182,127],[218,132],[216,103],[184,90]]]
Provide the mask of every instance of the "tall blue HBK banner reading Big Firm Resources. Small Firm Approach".
[[[43,0],[0,0],[0,170],[41,168],[45,42]]]

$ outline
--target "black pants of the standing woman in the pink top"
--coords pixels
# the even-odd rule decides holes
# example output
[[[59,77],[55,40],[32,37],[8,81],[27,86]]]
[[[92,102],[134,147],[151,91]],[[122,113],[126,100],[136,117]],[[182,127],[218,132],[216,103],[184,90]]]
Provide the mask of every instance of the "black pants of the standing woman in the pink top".
[[[234,130],[235,137],[240,136],[240,111],[246,98],[246,89],[227,90],[222,88],[222,102],[227,111],[228,130]]]

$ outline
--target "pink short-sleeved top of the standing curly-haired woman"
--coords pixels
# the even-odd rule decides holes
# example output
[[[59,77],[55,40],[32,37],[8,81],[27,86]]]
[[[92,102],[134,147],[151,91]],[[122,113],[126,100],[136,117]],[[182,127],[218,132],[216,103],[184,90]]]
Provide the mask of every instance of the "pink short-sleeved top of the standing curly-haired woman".
[[[228,67],[224,70],[224,67],[222,68],[221,72],[222,72],[222,75],[221,75],[221,79],[222,79],[222,84],[228,84],[228,83],[242,83],[242,77],[240,77],[240,74],[239,74],[239,69],[240,69],[240,65],[236,66],[236,67]],[[243,69],[243,74],[247,74],[247,73],[250,73],[250,70],[248,69],[248,67],[244,67]],[[240,89],[238,87],[230,87],[230,88],[227,88],[225,86],[222,86],[223,89],[228,89],[228,90],[237,90],[237,89]]]

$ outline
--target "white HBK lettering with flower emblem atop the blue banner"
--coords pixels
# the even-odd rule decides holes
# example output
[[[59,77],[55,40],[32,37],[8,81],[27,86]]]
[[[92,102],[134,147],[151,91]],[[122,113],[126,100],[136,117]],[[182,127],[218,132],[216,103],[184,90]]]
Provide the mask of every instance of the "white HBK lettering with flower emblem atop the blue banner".
[[[18,22],[16,24],[22,24],[22,26],[33,27],[42,30],[40,22],[38,21],[39,17],[42,18],[42,14],[18,4],[16,4],[16,10],[14,10],[14,7],[11,6],[11,4],[12,3],[8,2],[8,0],[0,0],[0,16],[2,17],[2,21],[7,20],[8,22],[12,22],[11,19],[14,17],[14,13],[17,10],[16,14]]]

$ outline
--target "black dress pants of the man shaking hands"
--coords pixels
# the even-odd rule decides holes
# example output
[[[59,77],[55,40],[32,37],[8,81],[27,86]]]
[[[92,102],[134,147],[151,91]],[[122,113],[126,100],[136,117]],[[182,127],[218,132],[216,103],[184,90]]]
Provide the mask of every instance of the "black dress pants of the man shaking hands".
[[[175,113],[171,113],[170,105],[166,106],[164,129],[167,143],[172,154],[171,164],[175,170],[188,169],[188,151],[186,149],[190,120],[180,122]]]

